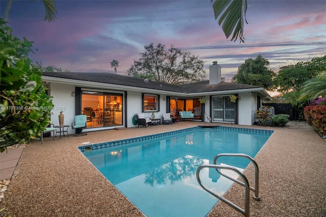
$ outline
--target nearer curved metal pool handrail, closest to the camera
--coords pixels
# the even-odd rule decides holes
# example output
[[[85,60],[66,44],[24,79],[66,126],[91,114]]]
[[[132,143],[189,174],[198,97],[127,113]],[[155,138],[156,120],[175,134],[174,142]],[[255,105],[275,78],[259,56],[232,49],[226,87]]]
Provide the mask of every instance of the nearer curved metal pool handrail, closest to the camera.
[[[200,170],[203,168],[214,168],[215,170],[218,169],[226,169],[226,170],[232,170],[234,172],[236,172],[243,180],[244,182],[244,209],[241,209],[240,207],[238,207],[237,205],[235,205],[234,203],[230,202],[229,200],[225,199],[224,197],[216,194],[215,192],[213,192],[211,189],[209,189],[208,187],[206,187],[202,181],[200,180]],[[238,169],[231,167],[231,166],[223,166],[223,165],[215,165],[215,164],[208,164],[208,165],[202,165],[197,169],[196,172],[196,177],[197,177],[197,181],[199,183],[199,185],[209,194],[213,195],[216,198],[219,198],[220,200],[222,200],[223,202],[225,202],[226,204],[228,204],[229,206],[233,207],[234,209],[236,209],[237,211],[241,212],[242,214],[244,214],[244,216],[249,217],[250,215],[250,186],[249,186],[249,182],[246,176],[244,176]],[[231,178],[229,176],[225,176],[226,178]]]

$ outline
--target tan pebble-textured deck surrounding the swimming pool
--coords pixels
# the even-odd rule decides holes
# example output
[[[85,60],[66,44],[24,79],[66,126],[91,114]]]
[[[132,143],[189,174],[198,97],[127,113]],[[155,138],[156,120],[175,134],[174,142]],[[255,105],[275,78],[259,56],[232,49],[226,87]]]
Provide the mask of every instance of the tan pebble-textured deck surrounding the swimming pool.
[[[84,142],[127,139],[200,124],[183,121],[88,132],[84,137],[70,135],[55,141],[44,138],[43,145],[32,141],[20,156],[0,209],[5,208],[4,213],[12,216],[142,216],[76,147]],[[314,131],[302,128],[248,128],[275,130],[255,157],[260,170],[261,201],[254,201],[253,192],[250,193],[250,215],[325,216],[326,143]],[[252,165],[244,172],[251,185],[253,173]],[[234,184],[225,198],[243,208],[243,195],[243,187]],[[243,215],[219,202],[208,216]]]

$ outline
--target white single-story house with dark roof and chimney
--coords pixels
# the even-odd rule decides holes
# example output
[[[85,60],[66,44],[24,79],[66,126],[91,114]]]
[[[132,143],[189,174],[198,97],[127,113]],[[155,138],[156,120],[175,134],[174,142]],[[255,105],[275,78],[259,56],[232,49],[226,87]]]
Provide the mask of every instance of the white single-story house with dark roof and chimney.
[[[209,80],[172,85],[148,79],[112,73],[44,72],[44,86],[53,97],[51,123],[59,125],[63,111],[64,124],[75,115],[87,115],[88,127],[94,131],[115,127],[135,127],[133,116],[161,119],[163,113],[179,117],[179,111],[195,113],[195,121],[229,122],[252,125],[261,99],[271,99],[264,88],[224,82],[217,62],[209,67]],[[236,96],[235,102],[229,98]],[[199,98],[205,97],[205,103]],[[209,117],[209,118],[208,118]],[[68,128],[69,133],[75,130]]]

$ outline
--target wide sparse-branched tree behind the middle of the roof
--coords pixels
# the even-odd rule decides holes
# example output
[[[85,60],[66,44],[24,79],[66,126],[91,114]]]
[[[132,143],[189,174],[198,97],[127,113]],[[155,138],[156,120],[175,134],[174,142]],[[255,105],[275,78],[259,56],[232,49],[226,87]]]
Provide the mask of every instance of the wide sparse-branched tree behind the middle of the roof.
[[[145,77],[158,82],[183,84],[198,82],[205,77],[204,63],[186,50],[175,48],[165,49],[165,45],[153,43],[145,45],[141,58],[133,61],[127,75]]]

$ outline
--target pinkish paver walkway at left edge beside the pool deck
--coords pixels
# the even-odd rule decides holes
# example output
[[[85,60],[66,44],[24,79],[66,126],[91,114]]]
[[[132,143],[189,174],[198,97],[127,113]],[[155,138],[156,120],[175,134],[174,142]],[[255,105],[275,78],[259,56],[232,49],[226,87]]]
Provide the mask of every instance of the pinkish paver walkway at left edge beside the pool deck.
[[[24,148],[8,149],[0,153],[0,181],[11,179]]]

